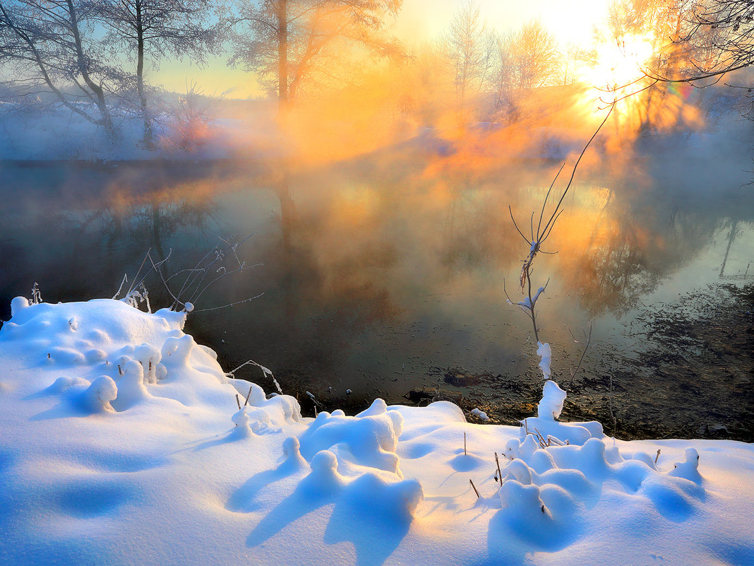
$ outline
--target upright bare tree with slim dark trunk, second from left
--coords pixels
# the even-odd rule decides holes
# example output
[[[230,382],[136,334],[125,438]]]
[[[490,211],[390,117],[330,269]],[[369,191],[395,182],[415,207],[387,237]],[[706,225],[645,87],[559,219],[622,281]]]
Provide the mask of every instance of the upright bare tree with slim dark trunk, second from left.
[[[105,42],[136,62],[136,91],[146,146],[152,146],[152,116],[144,80],[146,60],[157,68],[167,54],[203,63],[218,38],[210,26],[209,0],[84,0],[90,14],[109,32]]]

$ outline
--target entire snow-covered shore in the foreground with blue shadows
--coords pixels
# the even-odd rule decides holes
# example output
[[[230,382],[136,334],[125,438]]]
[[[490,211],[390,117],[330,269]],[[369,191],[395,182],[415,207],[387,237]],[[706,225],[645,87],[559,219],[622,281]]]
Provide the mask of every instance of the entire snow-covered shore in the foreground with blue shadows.
[[[751,444],[474,425],[444,401],[307,419],[226,376],[185,313],[12,310],[0,564],[754,563]]]

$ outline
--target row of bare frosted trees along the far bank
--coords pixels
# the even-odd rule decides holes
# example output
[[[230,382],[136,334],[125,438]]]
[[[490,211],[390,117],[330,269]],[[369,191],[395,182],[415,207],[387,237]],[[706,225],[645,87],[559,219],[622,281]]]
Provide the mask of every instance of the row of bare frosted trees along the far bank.
[[[523,94],[578,78],[598,55],[559,45],[538,20],[516,31],[489,29],[474,2],[446,32],[412,52],[391,35],[402,0],[0,0],[0,81],[16,100],[46,94],[115,136],[114,112],[130,112],[152,146],[155,87],[146,69],[166,57],[253,72],[277,98],[280,117],[305,88],[342,85],[366,57],[439,73],[452,85],[461,123],[480,94],[487,120],[516,118]],[[749,66],[754,6],[745,0],[616,0],[606,42],[651,31],[654,82],[694,82]],[[596,33],[596,32],[595,32]],[[428,68],[421,69],[421,61]],[[421,82],[421,76],[413,77]],[[411,106],[412,97],[404,93]]]

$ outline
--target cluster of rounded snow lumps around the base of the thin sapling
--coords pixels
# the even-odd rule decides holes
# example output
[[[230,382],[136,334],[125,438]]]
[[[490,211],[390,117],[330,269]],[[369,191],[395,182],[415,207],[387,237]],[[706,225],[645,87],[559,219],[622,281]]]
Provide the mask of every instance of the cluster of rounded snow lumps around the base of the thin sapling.
[[[649,500],[664,513],[700,512],[706,494],[697,451],[689,448],[684,462],[661,472],[648,454],[621,455],[597,423],[556,423],[565,398],[554,382],[545,382],[541,416],[523,423],[520,439],[507,441],[498,480],[505,528],[527,543],[547,546],[559,538],[567,544],[605,488],[627,505],[636,498],[639,508]]]

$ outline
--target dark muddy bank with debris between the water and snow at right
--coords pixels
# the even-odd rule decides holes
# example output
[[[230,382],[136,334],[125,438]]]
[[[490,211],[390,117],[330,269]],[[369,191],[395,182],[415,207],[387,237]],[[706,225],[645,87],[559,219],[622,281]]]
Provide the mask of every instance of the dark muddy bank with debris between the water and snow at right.
[[[685,294],[673,303],[642,309],[630,331],[636,348],[587,361],[575,376],[558,377],[568,392],[561,420],[598,420],[618,438],[728,438],[754,441],[754,285],[722,283]],[[427,405],[455,402],[470,422],[480,408],[488,423],[516,426],[536,414],[541,378],[429,368],[434,380],[388,402]],[[307,414],[314,402],[295,387]],[[298,389],[302,389],[299,391]],[[364,394],[325,393],[317,411],[369,406]]]

